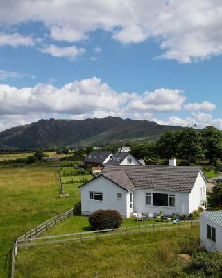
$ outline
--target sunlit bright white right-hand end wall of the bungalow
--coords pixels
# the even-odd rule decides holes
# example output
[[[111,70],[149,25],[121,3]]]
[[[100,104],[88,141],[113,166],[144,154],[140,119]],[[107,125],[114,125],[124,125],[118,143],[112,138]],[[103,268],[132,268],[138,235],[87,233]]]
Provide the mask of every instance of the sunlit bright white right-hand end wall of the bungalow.
[[[194,187],[189,195],[189,213],[198,209],[201,201],[206,199],[206,184],[202,174],[198,174]]]

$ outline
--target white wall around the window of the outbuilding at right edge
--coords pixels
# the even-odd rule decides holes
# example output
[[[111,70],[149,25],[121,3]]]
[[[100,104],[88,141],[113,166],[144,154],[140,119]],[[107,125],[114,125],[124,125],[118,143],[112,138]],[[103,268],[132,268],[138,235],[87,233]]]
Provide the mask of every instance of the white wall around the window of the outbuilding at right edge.
[[[216,229],[216,243],[207,238],[207,225]],[[200,213],[200,244],[208,252],[222,252],[222,227]]]

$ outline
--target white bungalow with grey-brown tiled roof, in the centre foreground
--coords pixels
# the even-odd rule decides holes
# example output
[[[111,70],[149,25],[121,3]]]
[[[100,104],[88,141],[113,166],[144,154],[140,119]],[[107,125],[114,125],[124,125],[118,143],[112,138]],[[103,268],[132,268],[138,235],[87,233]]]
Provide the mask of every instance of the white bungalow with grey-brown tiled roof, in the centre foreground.
[[[189,214],[205,208],[207,180],[201,167],[105,166],[80,186],[82,214],[115,209],[126,218],[141,213]]]

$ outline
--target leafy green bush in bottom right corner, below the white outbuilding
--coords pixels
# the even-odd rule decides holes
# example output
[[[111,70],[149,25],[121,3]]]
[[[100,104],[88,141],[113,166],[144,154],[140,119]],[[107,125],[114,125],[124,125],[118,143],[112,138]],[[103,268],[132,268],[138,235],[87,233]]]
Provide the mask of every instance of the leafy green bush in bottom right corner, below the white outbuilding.
[[[191,257],[188,270],[190,272],[201,270],[206,276],[221,277],[222,256],[218,253],[195,253]]]

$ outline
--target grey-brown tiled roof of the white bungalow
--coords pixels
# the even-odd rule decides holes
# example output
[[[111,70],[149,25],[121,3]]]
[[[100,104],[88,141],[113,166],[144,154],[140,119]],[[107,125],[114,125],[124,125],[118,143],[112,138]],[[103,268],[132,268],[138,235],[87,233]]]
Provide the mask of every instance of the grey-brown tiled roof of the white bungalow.
[[[105,166],[101,174],[126,190],[129,186],[133,189],[133,183],[139,189],[191,192],[200,170],[201,167],[113,165]],[[126,183],[130,185],[125,186]]]

